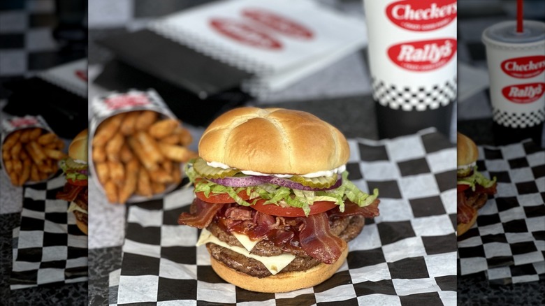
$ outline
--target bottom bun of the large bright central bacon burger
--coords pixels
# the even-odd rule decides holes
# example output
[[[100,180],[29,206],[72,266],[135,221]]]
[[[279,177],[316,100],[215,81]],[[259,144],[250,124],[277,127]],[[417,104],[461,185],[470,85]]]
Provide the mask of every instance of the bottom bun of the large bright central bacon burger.
[[[340,258],[333,264],[327,265],[320,263],[319,265],[305,271],[296,272],[279,272],[277,275],[268,277],[253,277],[237,270],[229,268],[224,263],[217,261],[210,256],[212,269],[226,282],[242,289],[264,293],[279,293],[294,291],[303,288],[310,288],[321,284],[329,277],[333,276],[341,267],[348,255],[348,246],[343,241],[343,249]]]

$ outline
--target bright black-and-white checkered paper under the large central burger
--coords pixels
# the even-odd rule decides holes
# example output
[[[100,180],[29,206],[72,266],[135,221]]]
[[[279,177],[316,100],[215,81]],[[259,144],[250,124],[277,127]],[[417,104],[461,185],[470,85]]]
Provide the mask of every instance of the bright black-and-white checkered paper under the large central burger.
[[[129,207],[110,305],[456,305],[456,149],[430,130],[349,145],[349,178],[363,191],[379,188],[381,214],[366,221],[326,282],[277,294],[227,284],[206,248],[195,247],[199,231],[177,225],[194,198],[180,189]]]

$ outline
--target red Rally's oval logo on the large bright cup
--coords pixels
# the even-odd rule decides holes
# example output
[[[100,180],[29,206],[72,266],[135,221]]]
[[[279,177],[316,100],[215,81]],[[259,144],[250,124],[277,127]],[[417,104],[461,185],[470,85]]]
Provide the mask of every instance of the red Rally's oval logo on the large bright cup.
[[[430,71],[448,63],[456,54],[456,39],[400,43],[388,48],[388,57],[401,68],[410,71]]]

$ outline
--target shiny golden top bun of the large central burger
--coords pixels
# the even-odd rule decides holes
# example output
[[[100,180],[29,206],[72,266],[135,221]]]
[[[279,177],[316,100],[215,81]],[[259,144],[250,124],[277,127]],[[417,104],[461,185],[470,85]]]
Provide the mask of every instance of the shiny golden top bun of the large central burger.
[[[303,175],[344,165],[350,149],[339,130],[308,112],[235,108],[208,126],[198,153],[240,170]]]

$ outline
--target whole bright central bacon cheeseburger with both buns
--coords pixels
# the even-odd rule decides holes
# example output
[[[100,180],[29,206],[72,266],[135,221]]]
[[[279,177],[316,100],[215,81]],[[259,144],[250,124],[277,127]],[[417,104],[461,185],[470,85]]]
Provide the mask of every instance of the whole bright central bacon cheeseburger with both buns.
[[[212,269],[249,291],[324,282],[347,258],[378,191],[347,178],[349,145],[307,112],[235,108],[215,119],[186,166],[196,197],[178,223],[202,228]]]

